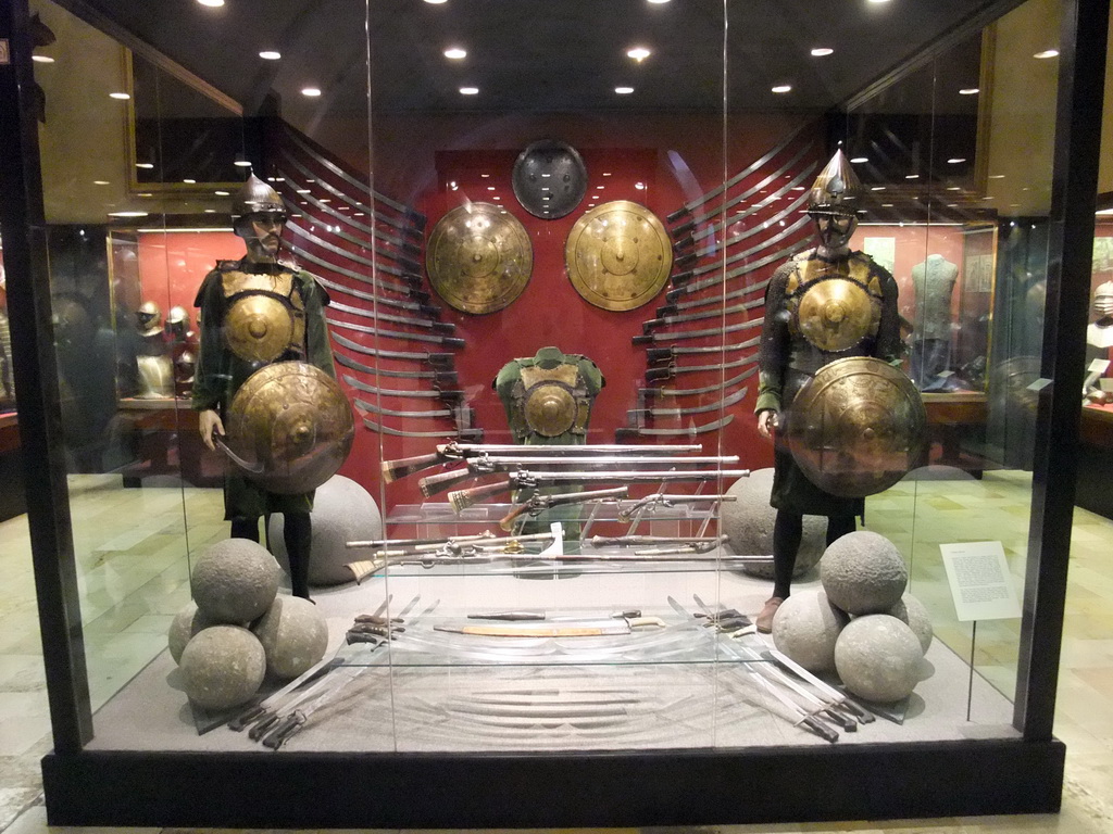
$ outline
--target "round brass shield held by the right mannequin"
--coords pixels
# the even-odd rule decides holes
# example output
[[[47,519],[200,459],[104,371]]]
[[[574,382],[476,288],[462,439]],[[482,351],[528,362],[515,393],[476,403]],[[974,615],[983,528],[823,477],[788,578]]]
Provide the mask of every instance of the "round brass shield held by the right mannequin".
[[[808,479],[833,495],[888,489],[919,464],[927,411],[912,380],[871,357],[820,368],[792,399],[782,426]]]

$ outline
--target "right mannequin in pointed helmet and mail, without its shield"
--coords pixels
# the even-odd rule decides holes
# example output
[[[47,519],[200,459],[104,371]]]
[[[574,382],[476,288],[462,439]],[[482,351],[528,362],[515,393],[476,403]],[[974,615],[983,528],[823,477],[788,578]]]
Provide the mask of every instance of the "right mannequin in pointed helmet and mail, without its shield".
[[[900,355],[897,285],[868,255],[848,244],[858,225],[861,185],[841,151],[820,172],[808,199],[818,246],[794,256],[774,274],[766,290],[755,413],[762,437],[775,434],[775,469],[769,503],[774,525],[774,590],[758,615],[768,633],[789,595],[802,534],[802,516],[827,516],[827,543],[851,533],[861,498],[831,495],[805,476],[777,429],[787,425],[792,398],[825,365],[853,356],[887,361]]]

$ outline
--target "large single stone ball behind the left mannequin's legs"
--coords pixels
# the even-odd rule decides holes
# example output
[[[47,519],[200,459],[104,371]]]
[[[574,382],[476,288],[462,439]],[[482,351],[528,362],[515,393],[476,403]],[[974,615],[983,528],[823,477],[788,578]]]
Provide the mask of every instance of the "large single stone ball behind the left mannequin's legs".
[[[383,516],[375,499],[351,478],[334,475],[317,487],[311,518],[309,584],[322,586],[352,582],[352,572],[344,565],[364,556],[347,549],[345,544],[383,537]],[[270,516],[267,530],[270,548],[285,565],[286,543],[282,529],[282,516]]]

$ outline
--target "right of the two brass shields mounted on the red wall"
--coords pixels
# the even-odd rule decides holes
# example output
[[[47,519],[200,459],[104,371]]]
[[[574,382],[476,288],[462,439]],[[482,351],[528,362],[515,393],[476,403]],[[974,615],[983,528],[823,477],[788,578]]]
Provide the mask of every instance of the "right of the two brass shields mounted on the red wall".
[[[564,262],[577,292],[604,310],[632,310],[669,280],[672,246],[664,225],[630,200],[604,202],[575,221]]]

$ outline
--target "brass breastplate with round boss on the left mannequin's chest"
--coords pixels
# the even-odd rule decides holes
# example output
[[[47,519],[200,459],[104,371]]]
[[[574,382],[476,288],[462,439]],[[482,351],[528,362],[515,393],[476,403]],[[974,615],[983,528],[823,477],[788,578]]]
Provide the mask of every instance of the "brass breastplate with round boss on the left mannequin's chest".
[[[249,363],[305,358],[305,300],[288,270],[221,275],[228,349]]]

